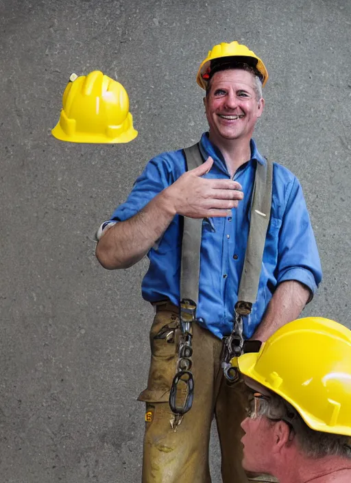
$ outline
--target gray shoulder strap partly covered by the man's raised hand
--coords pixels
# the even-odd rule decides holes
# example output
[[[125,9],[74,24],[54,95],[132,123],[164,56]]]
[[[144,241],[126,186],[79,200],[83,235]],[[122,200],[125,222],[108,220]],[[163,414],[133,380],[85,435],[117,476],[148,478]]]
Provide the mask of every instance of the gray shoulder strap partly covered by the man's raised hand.
[[[204,160],[196,143],[184,149],[187,171],[202,165]],[[188,298],[195,302],[199,298],[200,252],[202,237],[202,218],[184,216],[182,239],[182,259],[180,262],[180,301]]]

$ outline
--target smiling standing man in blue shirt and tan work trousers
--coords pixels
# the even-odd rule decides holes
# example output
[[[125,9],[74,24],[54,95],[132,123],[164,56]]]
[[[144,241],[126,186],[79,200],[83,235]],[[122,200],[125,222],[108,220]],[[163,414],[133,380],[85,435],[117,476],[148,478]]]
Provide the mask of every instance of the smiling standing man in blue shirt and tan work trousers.
[[[267,161],[252,139],[264,108],[263,62],[237,42],[221,44],[202,62],[197,82],[206,89],[210,126],[199,150],[204,163],[186,172],[183,150],[153,158],[132,192],[100,229],[97,258],[110,270],[149,257],[143,298],[156,307],[150,331],[143,482],[208,483],[210,425],[216,416],[224,483],[247,482],[241,467],[245,392],[221,370],[222,338],[233,310],[247,236],[257,163]],[[168,406],[177,364],[182,217],[203,218],[199,301],[193,326],[193,408],[173,432]],[[297,178],[274,163],[272,204],[258,295],[243,320],[246,339],[267,340],[300,315],[322,279],[315,237]],[[259,478],[259,477],[258,477]],[[267,480],[252,480],[267,481]]]

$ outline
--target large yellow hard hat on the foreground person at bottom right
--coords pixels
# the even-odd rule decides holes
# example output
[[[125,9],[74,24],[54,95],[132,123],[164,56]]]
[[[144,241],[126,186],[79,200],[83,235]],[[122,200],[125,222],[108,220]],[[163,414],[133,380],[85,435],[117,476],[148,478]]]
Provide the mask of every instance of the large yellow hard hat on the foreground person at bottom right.
[[[237,363],[312,429],[351,436],[351,331],[343,325],[320,317],[294,320]]]

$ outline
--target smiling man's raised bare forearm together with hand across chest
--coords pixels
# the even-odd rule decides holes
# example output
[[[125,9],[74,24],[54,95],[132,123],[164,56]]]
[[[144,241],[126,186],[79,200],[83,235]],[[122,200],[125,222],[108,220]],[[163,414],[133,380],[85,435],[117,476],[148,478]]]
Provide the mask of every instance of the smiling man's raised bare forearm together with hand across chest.
[[[186,172],[173,185],[163,189],[129,220],[119,222],[99,240],[96,256],[109,270],[128,268],[141,260],[167,230],[173,217],[228,216],[243,199],[239,182],[205,179],[213,159]]]

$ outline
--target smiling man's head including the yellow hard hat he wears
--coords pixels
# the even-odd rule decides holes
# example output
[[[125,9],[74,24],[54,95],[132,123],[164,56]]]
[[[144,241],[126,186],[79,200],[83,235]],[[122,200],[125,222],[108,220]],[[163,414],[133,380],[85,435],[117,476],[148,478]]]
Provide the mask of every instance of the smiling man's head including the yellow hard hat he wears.
[[[206,91],[204,104],[210,137],[249,141],[265,101],[268,73],[263,62],[237,42],[215,45],[202,62],[197,83]]]

